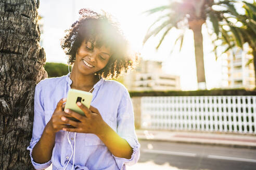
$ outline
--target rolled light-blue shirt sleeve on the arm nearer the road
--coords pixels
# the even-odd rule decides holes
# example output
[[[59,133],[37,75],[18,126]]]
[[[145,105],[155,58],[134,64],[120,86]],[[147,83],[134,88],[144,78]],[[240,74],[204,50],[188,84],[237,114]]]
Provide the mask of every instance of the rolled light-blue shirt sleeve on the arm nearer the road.
[[[121,98],[121,102],[118,107],[117,122],[118,135],[124,138],[127,143],[133,148],[133,153],[131,159],[118,158],[115,157],[113,154],[112,156],[115,159],[119,169],[126,169],[125,165],[134,165],[138,162],[140,156],[140,144],[138,143],[134,126],[133,105],[127,89],[125,89],[125,92]]]

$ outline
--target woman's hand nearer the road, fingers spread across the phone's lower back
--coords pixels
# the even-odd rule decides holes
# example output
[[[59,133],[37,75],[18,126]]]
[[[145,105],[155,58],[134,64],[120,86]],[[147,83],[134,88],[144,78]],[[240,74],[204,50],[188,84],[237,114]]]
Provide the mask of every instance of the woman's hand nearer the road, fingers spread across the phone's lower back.
[[[76,104],[83,110],[85,116],[82,116],[70,109],[66,109],[65,112],[67,114],[74,117],[75,119],[78,119],[80,122],[73,121],[68,119],[67,117],[62,116],[61,117],[62,121],[65,121],[67,124],[71,124],[73,126],[70,128],[65,127],[62,130],[69,131],[69,132],[78,132],[78,133],[93,133],[95,135],[99,135],[103,133],[103,130],[105,129],[104,127],[107,123],[101,117],[98,109],[93,106],[90,106],[89,108],[87,108],[85,105],[83,105],[80,102]]]

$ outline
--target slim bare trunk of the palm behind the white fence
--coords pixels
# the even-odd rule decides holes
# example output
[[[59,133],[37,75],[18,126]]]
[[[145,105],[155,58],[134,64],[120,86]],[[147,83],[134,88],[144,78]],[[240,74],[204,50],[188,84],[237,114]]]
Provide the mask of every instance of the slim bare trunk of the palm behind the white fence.
[[[203,23],[204,23],[204,20],[189,21],[189,27],[194,33],[198,89],[206,89],[206,76],[204,75],[204,63],[203,63],[203,39],[202,39]]]

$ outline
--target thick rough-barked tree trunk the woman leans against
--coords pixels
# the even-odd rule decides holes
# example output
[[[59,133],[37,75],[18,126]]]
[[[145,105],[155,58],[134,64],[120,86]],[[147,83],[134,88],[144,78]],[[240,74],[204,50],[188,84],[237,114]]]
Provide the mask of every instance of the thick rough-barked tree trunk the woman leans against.
[[[0,0],[0,169],[33,169],[34,88],[47,77],[39,0]]]

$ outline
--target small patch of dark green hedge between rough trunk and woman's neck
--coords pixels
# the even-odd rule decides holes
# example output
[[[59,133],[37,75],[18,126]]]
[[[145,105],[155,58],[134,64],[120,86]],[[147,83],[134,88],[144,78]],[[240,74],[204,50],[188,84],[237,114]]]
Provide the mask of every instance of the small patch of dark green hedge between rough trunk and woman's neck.
[[[70,72],[71,72],[71,66]],[[63,75],[67,75],[69,73],[68,70],[68,65],[67,64],[62,64],[62,63],[46,63],[44,66],[44,69],[48,73],[48,78],[49,77],[60,77]]]

